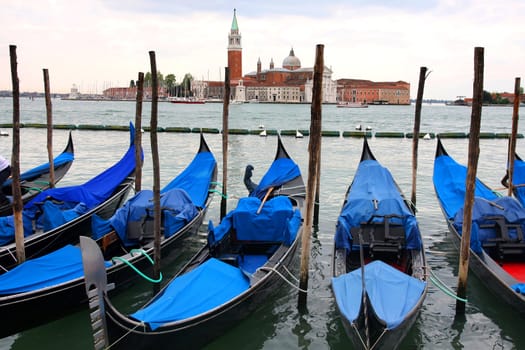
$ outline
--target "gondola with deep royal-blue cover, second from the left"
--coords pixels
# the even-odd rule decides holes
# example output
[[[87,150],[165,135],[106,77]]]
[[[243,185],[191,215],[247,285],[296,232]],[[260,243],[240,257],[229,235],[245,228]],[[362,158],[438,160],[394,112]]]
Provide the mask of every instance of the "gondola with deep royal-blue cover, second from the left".
[[[135,180],[135,129],[130,123],[130,145],[114,165],[81,185],[51,188],[24,205],[26,259],[76,244],[91,235],[91,217],[108,218],[122,206]],[[0,217],[0,274],[18,264],[13,215]]]

